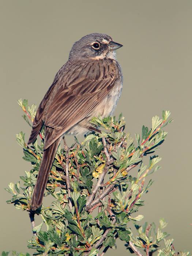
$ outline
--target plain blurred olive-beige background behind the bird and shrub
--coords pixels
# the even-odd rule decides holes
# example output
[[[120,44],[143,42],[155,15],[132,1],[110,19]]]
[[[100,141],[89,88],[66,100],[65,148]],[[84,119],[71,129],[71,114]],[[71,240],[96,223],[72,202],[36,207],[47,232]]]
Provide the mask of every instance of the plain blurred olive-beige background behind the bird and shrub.
[[[97,32],[124,45],[117,50],[124,86],[115,114],[123,112],[126,132],[135,137],[143,124],[151,127],[153,116],[172,112],[174,122],[165,127],[168,135],[156,153],[162,157],[162,168],[147,178],[155,182],[138,214],[144,215],[141,224],[158,225],[164,217],[175,249],[192,252],[192,1],[6,0],[0,3],[0,19],[1,251],[34,253],[26,242],[32,237],[28,213],[5,203],[11,195],[4,188],[31,169],[15,140],[20,131],[26,140],[30,134],[16,100],[38,105],[73,43]],[[130,174],[135,176],[136,170]],[[36,224],[40,221],[36,218]],[[123,246],[118,241],[116,251],[110,249],[106,255],[127,255]]]

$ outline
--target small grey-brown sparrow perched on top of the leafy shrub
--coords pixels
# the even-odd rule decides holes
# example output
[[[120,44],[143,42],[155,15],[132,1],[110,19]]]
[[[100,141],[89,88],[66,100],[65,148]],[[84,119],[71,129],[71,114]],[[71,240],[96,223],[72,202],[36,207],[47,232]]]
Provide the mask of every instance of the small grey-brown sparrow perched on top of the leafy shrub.
[[[122,46],[106,34],[85,35],[74,43],[68,61],[42,99],[28,141],[33,143],[44,125],[44,150],[31,200],[32,211],[41,207],[63,136],[86,135],[94,130],[89,123],[91,118],[113,115],[123,87],[123,72],[115,50]]]

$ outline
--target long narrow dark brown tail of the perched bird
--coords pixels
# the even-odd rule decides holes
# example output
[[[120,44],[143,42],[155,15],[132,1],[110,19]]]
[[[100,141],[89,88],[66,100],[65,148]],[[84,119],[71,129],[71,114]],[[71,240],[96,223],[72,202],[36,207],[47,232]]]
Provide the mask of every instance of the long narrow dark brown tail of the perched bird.
[[[39,208],[42,204],[44,191],[47,185],[50,169],[52,167],[54,157],[57,152],[61,137],[57,139],[53,144],[44,150],[43,157],[41,160],[41,165],[39,168],[39,173],[37,176],[37,181],[35,183],[35,188],[33,191],[33,197],[31,200],[31,209],[34,211]]]

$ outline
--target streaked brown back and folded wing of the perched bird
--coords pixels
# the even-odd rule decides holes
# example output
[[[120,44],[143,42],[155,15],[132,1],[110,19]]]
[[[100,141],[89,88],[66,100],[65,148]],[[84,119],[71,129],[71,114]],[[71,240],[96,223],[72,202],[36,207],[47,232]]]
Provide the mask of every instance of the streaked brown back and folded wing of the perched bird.
[[[34,127],[42,119],[47,127],[54,128],[52,136],[45,141],[44,149],[89,116],[116,84],[118,77],[112,60],[93,61],[89,65],[66,63],[63,69],[58,72],[57,82],[45,95],[34,120]]]

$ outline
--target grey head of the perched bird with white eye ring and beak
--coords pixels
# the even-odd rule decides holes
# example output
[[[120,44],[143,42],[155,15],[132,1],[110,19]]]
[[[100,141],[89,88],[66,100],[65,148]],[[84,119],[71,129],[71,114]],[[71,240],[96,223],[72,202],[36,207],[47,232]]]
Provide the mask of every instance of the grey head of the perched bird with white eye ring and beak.
[[[123,45],[113,42],[109,35],[93,33],[75,42],[69,59],[115,59],[114,50],[121,46]]]

